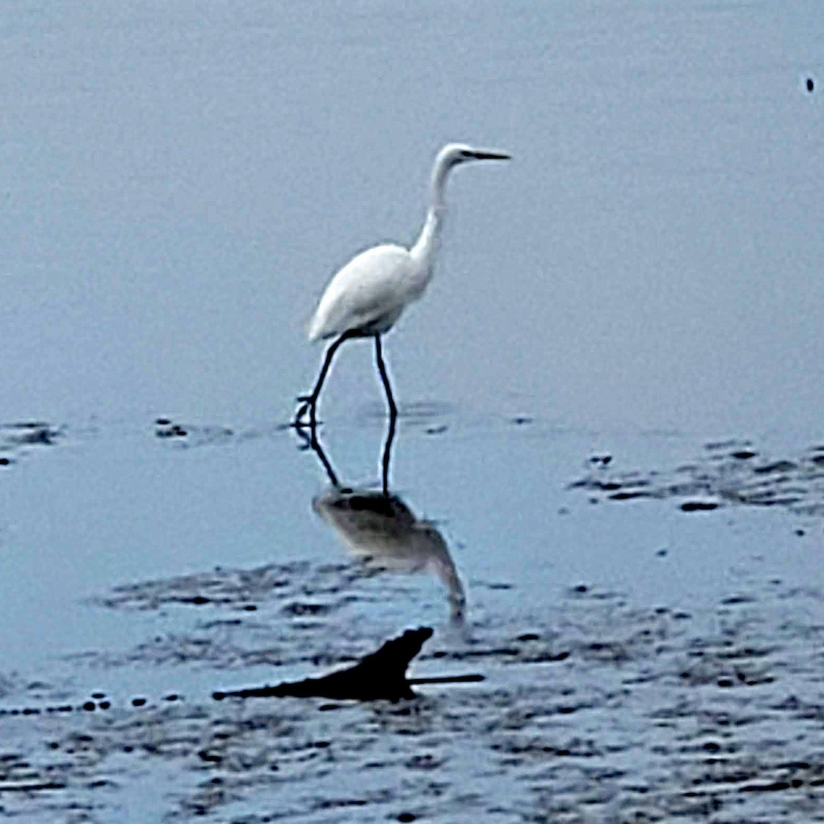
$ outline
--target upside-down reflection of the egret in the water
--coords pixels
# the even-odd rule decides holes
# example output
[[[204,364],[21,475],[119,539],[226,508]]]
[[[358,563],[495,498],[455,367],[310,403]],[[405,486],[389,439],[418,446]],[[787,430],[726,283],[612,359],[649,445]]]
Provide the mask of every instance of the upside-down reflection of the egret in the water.
[[[466,596],[447,542],[430,521],[416,517],[406,503],[389,491],[389,465],[395,438],[391,416],[382,456],[382,489],[352,489],[340,484],[317,431],[298,429],[306,448],[316,453],[329,476],[330,488],[312,508],[332,527],[367,569],[401,574],[430,573],[447,589],[450,618],[462,625]]]

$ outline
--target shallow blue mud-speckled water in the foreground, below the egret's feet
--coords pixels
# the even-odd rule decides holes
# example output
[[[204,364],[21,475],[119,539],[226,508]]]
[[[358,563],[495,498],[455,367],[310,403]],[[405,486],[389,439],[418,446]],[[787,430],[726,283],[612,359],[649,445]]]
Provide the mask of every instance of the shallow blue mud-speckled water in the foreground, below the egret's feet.
[[[356,424],[337,437],[373,438],[377,479],[381,422]],[[669,473],[746,463],[741,444],[613,438],[605,465],[587,433],[402,417],[392,477],[405,517],[434,518],[466,588],[456,616],[432,569],[347,554],[313,508],[325,470],[290,430],[167,430],[66,428],[7,467],[7,815],[820,820],[820,488],[811,508],[755,506],[739,471],[723,507],[685,510],[695,489]],[[528,483],[495,480],[513,466]],[[783,494],[770,475],[761,494]],[[648,494],[615,499],[630,483]],[[414,675],[485,680],[398,705],[211,698],[325,672],[416,625],[436,634]]]

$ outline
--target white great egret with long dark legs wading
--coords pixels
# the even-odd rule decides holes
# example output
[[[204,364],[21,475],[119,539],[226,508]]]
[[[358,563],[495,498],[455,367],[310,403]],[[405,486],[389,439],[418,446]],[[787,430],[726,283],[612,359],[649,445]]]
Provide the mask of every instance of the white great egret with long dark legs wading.
[[[443,216],[446,212],[447,176],[455,166],[471,160],[508,160],[504,152],[477,149],[463,143],[447,143],[435,158],[431,178],[431,200],[424,227],[414,246],[406,249],[387,243],[353,257],[330,280],[315,314],[307,327],[309,340],[337,339],[326,350],[315,388],[299,397],[302,405],[295,415],[295,426],[306,425],[303,416],[309,412],[309,425],[316,424],[317,399],[329,371],[332,358],[340,344],[349,338],[374,337],[375,359],[386,390],[391,418],[397,408],[392,397],[386,365],[383,363],[381,335],[388,332],[406,305],[418,300],[432,279],[432,267],[438,249]]]

